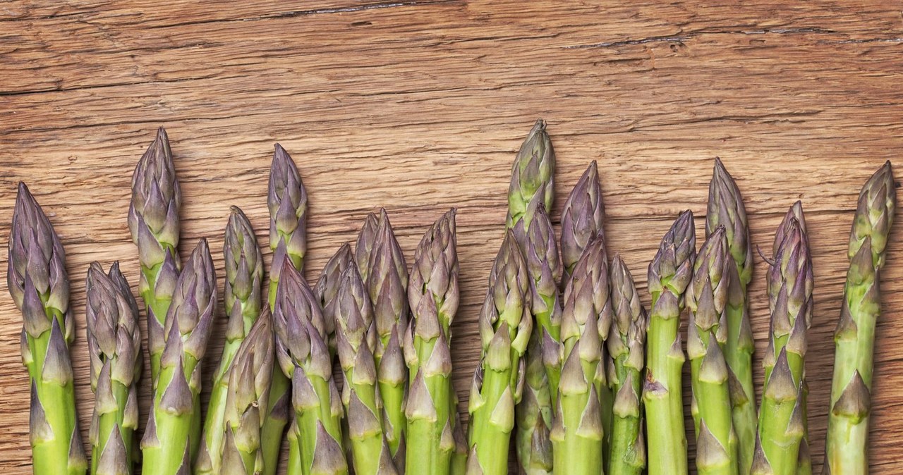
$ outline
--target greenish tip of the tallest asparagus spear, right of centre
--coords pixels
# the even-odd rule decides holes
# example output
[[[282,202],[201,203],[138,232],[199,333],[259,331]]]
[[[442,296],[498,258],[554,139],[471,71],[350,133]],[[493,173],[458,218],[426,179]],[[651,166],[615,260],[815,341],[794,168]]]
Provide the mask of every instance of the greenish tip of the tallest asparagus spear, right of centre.
[[[545,132],[545,121],[539,119],[517,151],[511,167],[506,218],[508,228],[513,228],[518,221],[524,219],[535,196],[539,196],[546,209],[552,207],[554,175],[555,151],[548,132]]]

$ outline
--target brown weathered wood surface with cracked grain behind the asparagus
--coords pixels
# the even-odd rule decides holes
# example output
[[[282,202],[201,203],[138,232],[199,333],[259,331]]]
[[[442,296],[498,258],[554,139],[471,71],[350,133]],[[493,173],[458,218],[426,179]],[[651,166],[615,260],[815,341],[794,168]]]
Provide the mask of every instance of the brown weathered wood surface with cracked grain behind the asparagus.
[[[535,118],[548,121],[558,154],[556,223],[570,187],[599,160],[610,252],[625,257],[646,302],[659,239],[680,210],[703,215],[720,156],[745,195],[754,244],[770,249],[787,206],[805,204],[817,283],[808,361],[817,473],[852,211],[864,180],[903,149],[901,71],[899,5],[875,0],[7,2],[0,247],[24,180],[69,253],[87,442],[83,279],[90,261],[120,260],[137,287],[126,210],[154,130],[167,127],[182,182],[182,255],[208,237],[220,286],[228,206],[241,206],[267,242],[267,172],[281,142],[310,194],[309,279],[378,206],[409,259],[433,219],[458,207],[463,305],[453,356],[466,414],[509,167]],[[883,474],[903,470],[901,236],[898,225],[877,343],[871,459]],[[756,266],[762,351],[765,264],[757,257]],[[30,471],[28,382],[5,280],[0,461],[13,475]]]

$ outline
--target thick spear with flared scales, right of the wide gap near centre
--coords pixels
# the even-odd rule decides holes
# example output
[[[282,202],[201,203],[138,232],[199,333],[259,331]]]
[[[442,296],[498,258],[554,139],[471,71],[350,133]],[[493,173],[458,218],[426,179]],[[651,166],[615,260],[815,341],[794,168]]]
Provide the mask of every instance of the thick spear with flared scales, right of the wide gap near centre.
[[[467,473],[507,473],[507,454],[515,425],[515,406],[524,388],[530,316],[530,276],[508,231],[489,274],[479,314],[482,352],[470,387],[470,455]]]

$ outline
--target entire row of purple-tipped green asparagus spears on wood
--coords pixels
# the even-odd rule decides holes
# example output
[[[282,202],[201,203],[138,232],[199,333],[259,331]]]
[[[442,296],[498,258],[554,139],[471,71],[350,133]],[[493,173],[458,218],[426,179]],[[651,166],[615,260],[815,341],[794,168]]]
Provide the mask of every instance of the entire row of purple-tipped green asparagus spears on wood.
[[[479,313],[465,436],[451,379],[455,211],[427,230],[410,269],[385,210],[368,215],[354,248],[343,244],[309,286],[307,193],[277,144],[267,196],[272,265],[265,275],[255,231],[233,207],[223,245],[226,341],[202,412],[210,377],[202,362],[219,325],[217,276],[205,240],[184,262],[178,255],[182,196],[160,129],[135,168],[128,211],[153,405],[139,440],[139,307],[118,263],[104,271],[94,262],[86,281],[96,396],[89,459],[75,410],[64,251],[20,184],[8,279],[23,314],[34,473],[127,475],[140,464],[144,474],[272,475],[285,441],[290,475],[498,475],[508,472],[512,443],[517,470],[528,475],[680,475],[688,472],[687,357],[699,473],[811,473],[805,334],[815,286],[801,203],[778,226],[770,257],[759,250],[771,322],[757,409],[747,293],[755,258],[740,189],[721,161],[703,245],[696,250],[694,216],[685,211],[649,264],[648,312],[628,265],[608,258],[595,162],[563,206],[557,239],[548,214],[554,169],[538,121],[512,168],[507,231]],[[880,269],[895,206],[887,163],[862,188],[852,226],[825,474],[868,473]]]

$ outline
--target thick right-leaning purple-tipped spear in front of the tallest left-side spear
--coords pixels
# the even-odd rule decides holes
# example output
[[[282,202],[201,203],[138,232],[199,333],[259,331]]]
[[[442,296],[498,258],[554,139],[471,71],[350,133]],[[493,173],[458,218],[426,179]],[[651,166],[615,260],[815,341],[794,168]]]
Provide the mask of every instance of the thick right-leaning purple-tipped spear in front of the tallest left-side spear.
[[[173,475],[191,470],[200,427],[200,371],[216,314],[217,277],[207,241],[201,239],[176,280],[166,313],[166,342],[141,450],[142,473]]]

